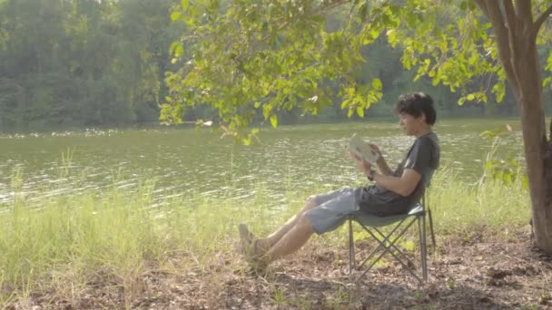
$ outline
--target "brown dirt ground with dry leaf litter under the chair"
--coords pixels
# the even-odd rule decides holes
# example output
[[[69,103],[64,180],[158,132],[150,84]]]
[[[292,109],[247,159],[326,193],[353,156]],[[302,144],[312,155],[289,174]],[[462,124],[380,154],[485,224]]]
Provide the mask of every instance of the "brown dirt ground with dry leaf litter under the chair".
[[[552,309],[552,258],[530,246],[527,230],[439,238],[423,286],[390,260],[351,284],[347,246],[318,240],[262,276],[221,254],[185,274],[144,272],[133,292],[113,280],[74,298],[36,293],[7,309]]]

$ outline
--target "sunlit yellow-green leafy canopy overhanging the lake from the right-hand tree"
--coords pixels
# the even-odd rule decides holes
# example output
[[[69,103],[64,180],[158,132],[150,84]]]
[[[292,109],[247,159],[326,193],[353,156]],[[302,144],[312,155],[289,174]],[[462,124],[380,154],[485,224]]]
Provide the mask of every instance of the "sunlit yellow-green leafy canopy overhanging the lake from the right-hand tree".
[[[537,1],[539,8],[550,1]],[[237,138],[257,116],[278,125],[277,112],[317,114],[340,100],[349,116],[364,115],[382,95],[375,78],[357,82],[362,49],[387,40],[401,62],[434,85],[461,90],[465,101],[500,102],[506,75],[491,24],[473,1],[182,0],[173,21],[187,25],[171,46],[174,73],[163,121],[182,121],[186,107],[211,105]],[[454,19],[451,19],[453,18]],[[330,18],[340,20],[331,27]],[[333,29],[332,29],[333,28]],[[541,44],[549,44],[543,36]],[[547,70],[552,69],[552,54]],[[550,82],[548,78],[545,83]],[[464,92],[477,82],[477,92]],[[473,86],[473,84],[471,84]],[[335,91],[337,89],[337,91]],[[473,87],[470,87],[473,89]],[[243,139],[248,143],[249,136]]]

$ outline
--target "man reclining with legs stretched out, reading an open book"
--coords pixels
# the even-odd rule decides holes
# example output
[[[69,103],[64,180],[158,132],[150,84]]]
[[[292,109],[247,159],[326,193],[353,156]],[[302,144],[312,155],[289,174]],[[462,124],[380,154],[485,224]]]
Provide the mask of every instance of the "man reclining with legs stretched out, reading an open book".
[[[256,238],[241,224],[242,252],[251,266],[267,266],[301,248],[313,233],[321,235],[339,228],[350,211],[360,209],[380,217],[391,216],[408,212],[419,201],[433,171],[439,167],[439,140],[433,132],[437,118],[433,100],[425,93],[409,93],[399,98],[394,112],[406,134],[416,137],[398,168],[390,170],[378,147],[372,145],[380,154],[378,172],[356,155],[350,153],[350,157],[375,184],[311,196],[299,213],[269,237]]]

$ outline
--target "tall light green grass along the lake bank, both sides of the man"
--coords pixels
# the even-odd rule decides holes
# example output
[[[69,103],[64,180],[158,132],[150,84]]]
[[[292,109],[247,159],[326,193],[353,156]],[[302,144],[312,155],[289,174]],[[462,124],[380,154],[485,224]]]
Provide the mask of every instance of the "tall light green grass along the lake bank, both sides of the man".
[[[13,179],[13,188],[20,188],[21,176]],[[38,206],[16,196],[0,208],[0,305],[25,304],[35,292],[71,302],[87,288],[102,286],[122,290],[125,306],[131,307],[144,273],[202,273],[232,265],[239,222],[265,235],[317,192],[288,189],[290,207],[279,209],[267,207],[271,198],[262,189],[242,200],[228,193],[229,199],[179,197],[163,204],[154,204],[154,189],[153,182],[143,181],[133,189],[113,186],[101,195],[63,194]],[[504,233],[526,225],[530,216],[527,189],[520,182],[468,184],[452,170],[434,177],[429,204],[439,237],[481,226]],[[345,235],[341,228],[320,242],[342,246]],[[283,302],[278,290],[272,298]]]

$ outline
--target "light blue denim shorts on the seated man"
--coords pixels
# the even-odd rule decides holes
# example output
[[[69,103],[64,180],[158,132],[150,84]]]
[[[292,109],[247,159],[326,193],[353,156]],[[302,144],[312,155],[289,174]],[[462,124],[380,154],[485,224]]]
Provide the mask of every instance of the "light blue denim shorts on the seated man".
[[[339,228],[350,212],[359,209],[355,189],[340,189],[317,195],[315,202],[317,206],[307,211],[306,216],[318,235]]]

